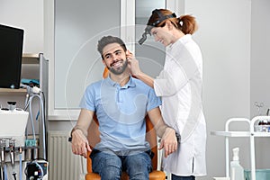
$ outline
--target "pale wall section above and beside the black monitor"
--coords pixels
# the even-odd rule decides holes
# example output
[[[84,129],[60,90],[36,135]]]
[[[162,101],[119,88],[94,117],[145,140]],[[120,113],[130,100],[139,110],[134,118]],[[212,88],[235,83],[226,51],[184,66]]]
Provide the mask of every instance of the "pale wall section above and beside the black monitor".
[[[24,53],[43,52],[43,0],[0,0],[0,23],[24,30]]]

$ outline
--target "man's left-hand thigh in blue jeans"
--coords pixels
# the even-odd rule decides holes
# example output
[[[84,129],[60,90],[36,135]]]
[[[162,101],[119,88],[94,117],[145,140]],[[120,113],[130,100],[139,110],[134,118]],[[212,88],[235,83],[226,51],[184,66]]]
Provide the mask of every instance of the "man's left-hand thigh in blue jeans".
[[[121,159],[114,154],[94,150],[92,170],[98,173],[102,180],[118,180],[121,177]]]

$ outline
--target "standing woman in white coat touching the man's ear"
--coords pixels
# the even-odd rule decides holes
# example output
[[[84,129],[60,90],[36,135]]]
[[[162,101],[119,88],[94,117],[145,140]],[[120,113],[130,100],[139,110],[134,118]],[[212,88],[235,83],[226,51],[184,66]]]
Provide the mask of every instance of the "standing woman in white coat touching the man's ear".
[[[163,70],[156,79],[141,72],[138,60],[129,53],[129,67],[136,76],[161,96],[161,112],[166,124],[180,134],[178,150],[163,159],[164,170],[173,180],[193,180],[206,175],[206,124],[202,112],[202,53],[191,34],[197,30],[191,15],[176,17],[166,9],[156,9],[139,40],[147,35],[166,47]]]

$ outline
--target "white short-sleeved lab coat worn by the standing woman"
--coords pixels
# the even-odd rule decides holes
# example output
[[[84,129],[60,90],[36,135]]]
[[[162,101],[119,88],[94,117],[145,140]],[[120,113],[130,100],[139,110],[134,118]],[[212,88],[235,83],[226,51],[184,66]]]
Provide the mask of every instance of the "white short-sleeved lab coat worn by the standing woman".
[[[178,150],[163,158],[174,175],[206,175],[206,124],[202,112],[202,53],[190,34],[166,47],[164,69],[154,80],[166,124],[181,135]]]

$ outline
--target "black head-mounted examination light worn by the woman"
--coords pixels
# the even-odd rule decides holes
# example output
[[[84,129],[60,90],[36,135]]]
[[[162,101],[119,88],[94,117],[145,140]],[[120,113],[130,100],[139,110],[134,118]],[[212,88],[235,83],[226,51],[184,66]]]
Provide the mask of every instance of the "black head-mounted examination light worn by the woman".
[[[142,37],[139,40],[139,45],[143,44],[143,42],[145,40],[147,40],[147,35],[148,34],[151,35],[151,30],[152,30],[153,27],[157,27],[157,25],[159,23],[162,23],[164,20],[166,20],[168,18],[175,18],[176,17],[175,14],[163,15],[162,13],[160,13],[160,11],[158,9],[155,9],[154,11],[152,11],[152,14],[157,14],[158,19],[154,23],[148,23],[148,25],[145,28],[143,34],[141,35]]]

